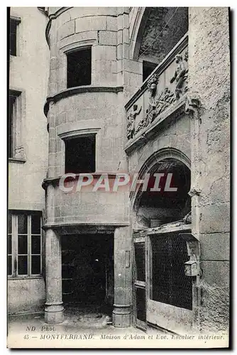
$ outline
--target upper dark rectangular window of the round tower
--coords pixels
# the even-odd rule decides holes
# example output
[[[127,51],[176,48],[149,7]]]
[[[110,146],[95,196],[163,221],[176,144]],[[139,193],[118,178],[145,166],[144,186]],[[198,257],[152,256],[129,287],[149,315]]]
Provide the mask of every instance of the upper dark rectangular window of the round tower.
[[[92,49],[67,54],[67,87],[90,85],[92,82]]]

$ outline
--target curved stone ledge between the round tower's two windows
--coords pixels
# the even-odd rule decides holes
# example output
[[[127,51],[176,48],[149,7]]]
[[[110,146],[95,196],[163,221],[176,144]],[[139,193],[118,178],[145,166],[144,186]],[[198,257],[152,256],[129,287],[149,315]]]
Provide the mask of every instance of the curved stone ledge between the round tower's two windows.
[[[60,99],[65,99],[66,97],[74,96],[77,94],[82,94],[84,92],[122,92],[123,87],[106,87],[106,86],[93,86],[93,85],[83,85],[79,87],[70,87],[68,89],[57,92],[57,94],[47,97],[43,108],[44,114],[47,117],[50,102],[58,102]]]

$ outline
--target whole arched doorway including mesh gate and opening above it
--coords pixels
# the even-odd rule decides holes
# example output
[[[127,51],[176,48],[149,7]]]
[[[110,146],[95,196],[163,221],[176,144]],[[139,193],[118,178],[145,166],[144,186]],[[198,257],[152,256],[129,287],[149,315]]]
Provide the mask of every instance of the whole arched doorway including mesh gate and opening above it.
[[[143,165],[143,177],[150,173],[148,188],[140,185],[133,204],[134,319],[141,328],[149,324],[173,332],[189,331],[196,278],[184,271],[189,255],[182,233],[191,232],[187,218],[191,173],[177,154],[161,155]],[[157,176],[159,190],[154,191]]]

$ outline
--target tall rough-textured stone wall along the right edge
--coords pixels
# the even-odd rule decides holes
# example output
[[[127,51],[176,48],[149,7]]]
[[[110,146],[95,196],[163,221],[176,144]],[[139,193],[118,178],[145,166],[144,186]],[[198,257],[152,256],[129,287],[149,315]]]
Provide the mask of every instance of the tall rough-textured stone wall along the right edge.
[[[230,62],[227,8],[189,8],[192,232],[201,244],[201,329],[228,327]],[[197,101],[196,101],[197,103]]]

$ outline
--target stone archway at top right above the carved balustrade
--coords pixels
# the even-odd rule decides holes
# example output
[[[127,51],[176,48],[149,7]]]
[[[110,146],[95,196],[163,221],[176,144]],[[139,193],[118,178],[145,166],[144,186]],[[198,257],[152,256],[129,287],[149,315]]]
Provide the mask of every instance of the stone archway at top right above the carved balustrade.
[[[150,60],[158,64],[187,33],[188,9],[185,7],[133,8],[130,26],[130,58]]]

